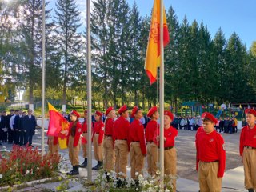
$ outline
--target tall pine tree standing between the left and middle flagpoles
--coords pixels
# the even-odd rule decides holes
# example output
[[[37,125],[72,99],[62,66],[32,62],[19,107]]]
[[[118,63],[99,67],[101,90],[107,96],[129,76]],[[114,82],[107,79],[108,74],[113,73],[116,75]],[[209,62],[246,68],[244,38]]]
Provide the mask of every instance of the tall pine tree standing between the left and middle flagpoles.
[[[66,105],[67,89],[71,80],[78,78],[82,67],[82,35],[77,32],[82,25],[80,12],[74,0],[58,0],[55,23],[58,36],[58,50],[62,62],[62,105]],[[72,81],[71,81],[72,82]]]

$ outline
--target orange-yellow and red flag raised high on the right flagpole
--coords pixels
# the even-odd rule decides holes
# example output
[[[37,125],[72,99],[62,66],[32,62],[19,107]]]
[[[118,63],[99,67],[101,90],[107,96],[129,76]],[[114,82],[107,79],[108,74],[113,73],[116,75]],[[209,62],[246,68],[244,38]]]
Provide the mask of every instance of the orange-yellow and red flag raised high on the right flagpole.
[[[165,10],[165,9],[164,9]],[[166,22],[166,13],[163,12],[163,45],[170,42]],[[145,70],[150,78],[150,85],[153,84],[158,75],[158,67],[161,63],[160,53],[160,0],[154,0],[154,7],[150,25],[150,37],[146,50]]]

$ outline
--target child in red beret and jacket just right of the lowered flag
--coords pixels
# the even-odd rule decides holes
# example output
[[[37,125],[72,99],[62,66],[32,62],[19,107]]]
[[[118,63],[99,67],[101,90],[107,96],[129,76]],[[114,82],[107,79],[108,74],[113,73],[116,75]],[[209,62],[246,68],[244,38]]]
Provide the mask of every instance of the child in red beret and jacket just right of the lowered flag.
[[[70,128],[67,136],[67,146],[69,148],[69,157],[70,162],[73,166],[73,170],[71,170],[68,175],[79,174],[79,150],[80,150],[80,135],[82,134],[82,126],[78,120],[80,115],[77,111],[73,110],[70,113]]]

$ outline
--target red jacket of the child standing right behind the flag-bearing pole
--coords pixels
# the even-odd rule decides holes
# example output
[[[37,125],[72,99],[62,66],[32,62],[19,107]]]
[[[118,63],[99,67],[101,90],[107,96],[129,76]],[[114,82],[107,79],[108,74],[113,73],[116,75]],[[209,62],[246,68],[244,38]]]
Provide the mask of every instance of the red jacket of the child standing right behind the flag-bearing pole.
[[[158,145],[158,147],[160,146],[160,142],[157,142],[157,136],[160,135],[160,129],[158,128],[155,132],[154,132],[154,143]],[[170,128],[168,129],[164,129],[164,137],[166,138],[164,147],[170,147],[170,146],[174,146],[175,144],[175,138],[178,135],[178,130],[176,130],[173,126],[170,126]]]

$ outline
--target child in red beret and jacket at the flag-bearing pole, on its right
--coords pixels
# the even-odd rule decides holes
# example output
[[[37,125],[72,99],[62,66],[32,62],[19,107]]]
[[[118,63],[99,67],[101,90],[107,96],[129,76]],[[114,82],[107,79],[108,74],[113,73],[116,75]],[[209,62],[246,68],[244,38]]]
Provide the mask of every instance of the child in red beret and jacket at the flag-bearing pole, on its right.
[[[172,175],[176,176],[177,169],[177,153],[176,149],[174,147],[175,144],[175,138],[178,135],[178,130],[176,130],[173,126],[170,126],[170,123],[174,119],[174,115],[170,111],[164,112],[164,167],[165,167],[165,174],[166,175]],[[158,148],[160,147],[160,130],[159,128],[155,131],[154,134],[154,143],[158,145]],[[173,191],[176,191],[176,179],[173,180]]]

